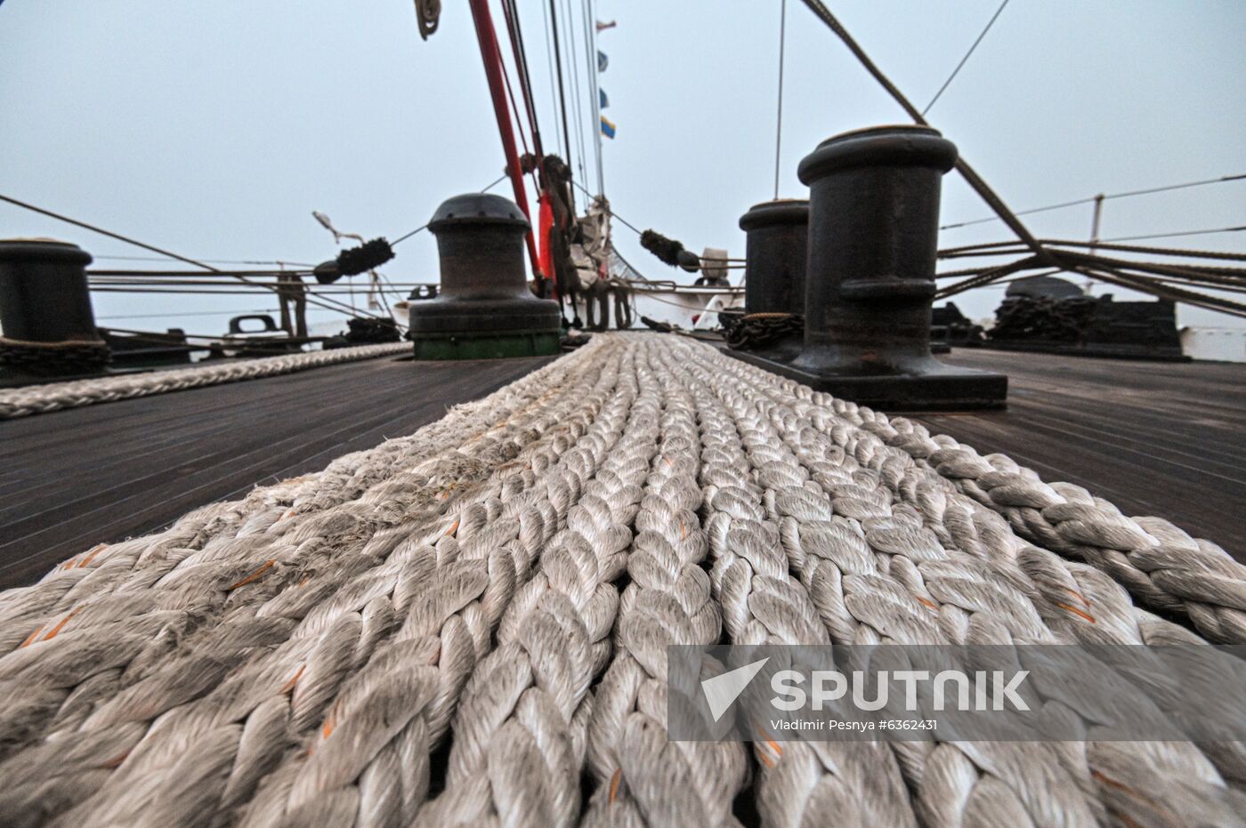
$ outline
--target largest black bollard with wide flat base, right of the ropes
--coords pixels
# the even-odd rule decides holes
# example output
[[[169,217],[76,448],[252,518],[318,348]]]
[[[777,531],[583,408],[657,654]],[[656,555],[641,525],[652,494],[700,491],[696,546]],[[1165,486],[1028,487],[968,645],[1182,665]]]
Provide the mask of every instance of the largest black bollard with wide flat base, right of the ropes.
[[[956,146],[928,127],[876,127],[819,144],[810,187],[805,345],[774,370],[890,411],[998,407],[1008,377],[931,356],[939,187]]]

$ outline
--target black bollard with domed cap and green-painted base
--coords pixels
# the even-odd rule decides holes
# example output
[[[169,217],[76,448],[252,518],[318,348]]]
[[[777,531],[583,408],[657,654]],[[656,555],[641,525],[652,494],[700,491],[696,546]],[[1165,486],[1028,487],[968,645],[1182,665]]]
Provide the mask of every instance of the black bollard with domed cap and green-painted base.
[[[437,208],[429,229],[437,237],[441,289],[435,299],[411,304],[415,359],[558,352],[558,304],[528,290],[528,222],[513,202],[486,193],[456,195]]]

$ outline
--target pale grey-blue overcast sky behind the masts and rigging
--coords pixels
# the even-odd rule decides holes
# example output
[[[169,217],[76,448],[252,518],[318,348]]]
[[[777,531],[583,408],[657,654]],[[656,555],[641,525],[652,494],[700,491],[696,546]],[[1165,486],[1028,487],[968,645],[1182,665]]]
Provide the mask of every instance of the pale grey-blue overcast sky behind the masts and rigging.
[[[604,147],[606,193],[618,214],[694,250],[743,255],[736,220],[774,192],[780,1],[597,0],[597,17],[618,21],[599,35],[609,56],[606,115],[618,125]],[[566,2],[557,0],[559,9]],[[546,4],[518,5],[552,151]],[[569,5],[579,32],[581,2]],[[998,0],[829,5],[922,107]],[[1012,0],[930,120],[1018,210],[1246,173],[1244,46],[1240,0]],[[586,96],[586,143],[588,118]],[[780,194],[804,194],[796,164],[819,141],[903,121],[830,31],[787,0]],[[427,42],[409,0],[0,5],[0,193],[151,244],[211,259],[319,261],[335,248],[313,209],[340,229],[394,239],[502,167],[466,2],[445,4]],[[1042,235],[1085,238],[1090,214],[1085,205],[1027,220]],[[944,223],[984,215],[948,176]],[[1242,224],[1246,182],[1236,182],[1109,202],[1103,235]],[[97,256],[142,255],[0,204],[0,237],[15,235],[69,239]],[[617,225],[616,237],[648,275],[674,274],[625,228]],[[1244,237],[1171,243],[1240,250]],[[941,245],[1006,238],[999,224],[984,224],[947,230]],[[399,254],[386,268],[392,279],[436,278],[429,234]],[[96,266],[122,264],[101,258]],[[986,316],[1001,294],[957,301]],[[95,305],[107,321],[268,303],[97,294]],[[330,316],[316,311],[313,320]],[[226,316],[142,321],[219,332]],[[1206,311],[1182,313],[1181,321],[1234,324]]]

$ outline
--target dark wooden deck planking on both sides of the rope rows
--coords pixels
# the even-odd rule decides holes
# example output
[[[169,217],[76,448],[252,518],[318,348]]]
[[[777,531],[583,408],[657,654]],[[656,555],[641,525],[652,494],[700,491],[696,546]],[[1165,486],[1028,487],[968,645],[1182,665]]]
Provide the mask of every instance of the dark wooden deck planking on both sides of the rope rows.
[[[1239,560],[1246,366],[957,351],[1003,371],[1009,408],[922,416],[1128,514],[1158,514]],[[0,586],[96,543],[410,433],[547,360],[373,360],[0,422]]]

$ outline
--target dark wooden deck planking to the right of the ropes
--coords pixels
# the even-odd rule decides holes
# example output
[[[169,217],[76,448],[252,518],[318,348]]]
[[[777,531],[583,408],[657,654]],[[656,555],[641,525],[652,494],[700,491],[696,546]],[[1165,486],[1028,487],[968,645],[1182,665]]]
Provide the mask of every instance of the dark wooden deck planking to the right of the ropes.
[[[958,349],[1008,375],[1008,410],[922,415],[931,431],[1159,515],[1246,563],[1246,365]]]

